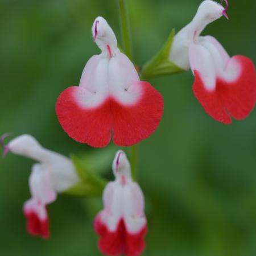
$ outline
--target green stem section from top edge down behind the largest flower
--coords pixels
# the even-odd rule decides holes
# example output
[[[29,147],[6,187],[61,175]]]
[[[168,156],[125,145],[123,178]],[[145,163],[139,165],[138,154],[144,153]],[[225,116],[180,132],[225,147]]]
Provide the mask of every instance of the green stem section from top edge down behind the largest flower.
[[[131,47],[131,32],[130,32],[130,20],[127,10],[126,0],[118,0],[119,5],[119,15],[121,21],[121,32],[123,40],[123,51],[133,61],[132,47]]]

